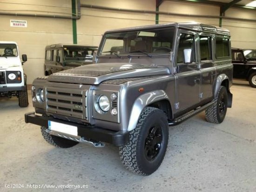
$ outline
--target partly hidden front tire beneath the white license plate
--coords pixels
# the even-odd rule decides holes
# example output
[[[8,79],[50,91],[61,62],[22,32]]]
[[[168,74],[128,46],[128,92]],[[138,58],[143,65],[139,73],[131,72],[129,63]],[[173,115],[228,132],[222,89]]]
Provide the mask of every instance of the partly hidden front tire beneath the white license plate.
[[[47,128],[44,126],[41,126],[41,133],[43,138],[51,145],[55,147],[60,147],[60,148],[69,148],[72,146],[75,146],[78,144],[76,141],[72,141],[69,139],[64,139],[55,135],[49,134],[47,131]]]

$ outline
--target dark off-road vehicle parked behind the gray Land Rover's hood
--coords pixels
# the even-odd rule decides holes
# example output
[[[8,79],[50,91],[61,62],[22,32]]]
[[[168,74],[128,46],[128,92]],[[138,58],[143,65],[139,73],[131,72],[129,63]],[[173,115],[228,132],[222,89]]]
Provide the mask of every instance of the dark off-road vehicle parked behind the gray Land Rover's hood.
[[[93,63],[97,46],[53,44],[45,47],[45,75]]]

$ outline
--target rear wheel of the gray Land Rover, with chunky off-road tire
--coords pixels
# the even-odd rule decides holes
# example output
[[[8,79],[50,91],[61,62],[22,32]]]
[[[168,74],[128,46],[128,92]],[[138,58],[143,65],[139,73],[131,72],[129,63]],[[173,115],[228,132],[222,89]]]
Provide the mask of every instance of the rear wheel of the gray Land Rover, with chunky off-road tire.
[[[222,123],[227,113],[228,93],[224,86],[221,86],[214,105],[205,111],[205,119],[210,123]]]

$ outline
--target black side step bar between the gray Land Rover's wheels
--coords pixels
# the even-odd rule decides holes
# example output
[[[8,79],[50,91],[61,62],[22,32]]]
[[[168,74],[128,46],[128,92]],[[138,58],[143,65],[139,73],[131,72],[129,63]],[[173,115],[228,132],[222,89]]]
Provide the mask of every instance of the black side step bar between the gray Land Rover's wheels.
[[[176,126],[180,123],[182,123],[184,120],[186,119],[189,119],[191,117],[193,117],[194,115],[198,114],[198,113],[201,113],[202,111],[204,111],[205,109],[207,109],[209,106],[212,106],[215,102],[212,101],[204,106],[201,106],[201,107],[198,107],[196,108],[195,110],[189,112],[189,113],[185,113],[184,115],[176,118],[176,119],[173,119],[171,121],[168,122],[168,125],[169,126]]]

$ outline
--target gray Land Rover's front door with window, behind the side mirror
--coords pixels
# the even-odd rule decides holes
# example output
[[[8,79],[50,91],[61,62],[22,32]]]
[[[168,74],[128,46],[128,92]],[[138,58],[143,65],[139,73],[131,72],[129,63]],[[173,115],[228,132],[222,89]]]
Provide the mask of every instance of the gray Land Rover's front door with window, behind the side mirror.
[[[195,51],[195,32],[180,31],[176,49],[176,112],[193,109],[200,102],[201,72],[198,69],[198,53]],[[183,50],[192,49],[192,63],[184,63]]]

